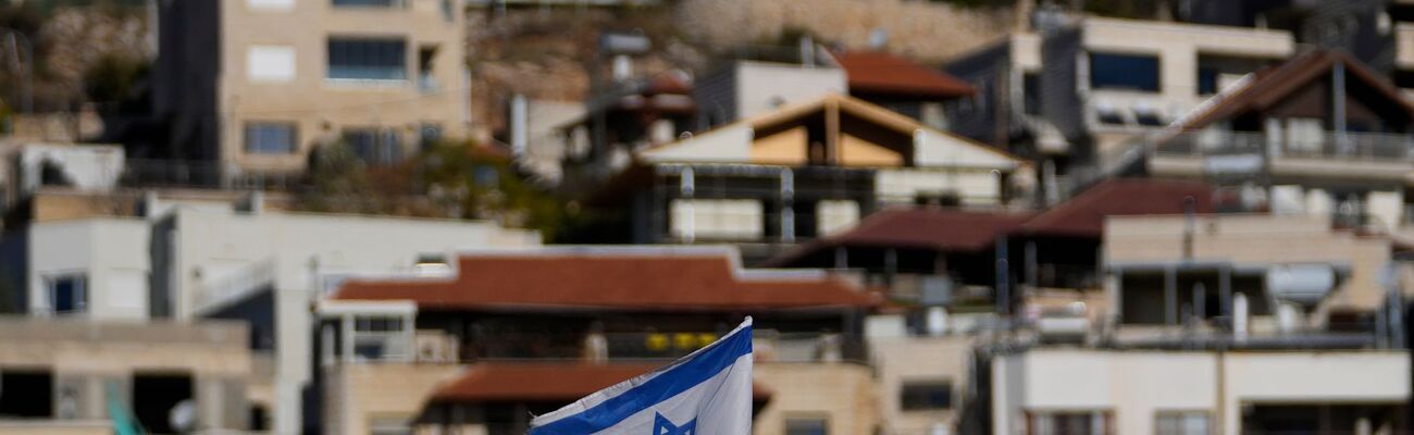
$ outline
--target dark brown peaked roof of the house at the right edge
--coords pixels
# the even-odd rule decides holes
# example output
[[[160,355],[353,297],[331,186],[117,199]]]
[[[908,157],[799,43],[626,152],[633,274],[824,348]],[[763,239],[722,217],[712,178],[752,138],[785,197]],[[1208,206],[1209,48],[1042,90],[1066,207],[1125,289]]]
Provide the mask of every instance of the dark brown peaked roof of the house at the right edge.
[[[1189,116],[1175,121],[1172,127],[1195,130],[1246,112],[1268,109],[1312,81],[1326,76],[1336,64],[1345,66],[1348,81],[1353,79],[1372,86],[1397,103],[1406,117],[1414,119],[1414,105],[1410,105],[1404,93],[1393,83],[1345,51],[1318,49],[1253,73],[1250,81],[1240,85],[1241,88],[1223,92],[1212,103],[1200,106]]]

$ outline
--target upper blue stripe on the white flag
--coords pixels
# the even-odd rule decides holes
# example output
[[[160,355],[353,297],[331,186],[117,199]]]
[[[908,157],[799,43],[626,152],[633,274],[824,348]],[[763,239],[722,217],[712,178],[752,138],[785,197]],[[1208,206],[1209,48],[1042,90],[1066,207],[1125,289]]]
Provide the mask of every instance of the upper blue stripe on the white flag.
[[[717,373],[735,364],[737,359],[748,353],[751,353],[749,326],[738,329],[725,339],[699,350],[697,354],[667,367],[666,371],[638,387],[611,397],[583,412],[532,428],[529,434],[594,434],[607,429],[639,411],[648,410],[658,403],[707,381],[713,376],[717,376]]]

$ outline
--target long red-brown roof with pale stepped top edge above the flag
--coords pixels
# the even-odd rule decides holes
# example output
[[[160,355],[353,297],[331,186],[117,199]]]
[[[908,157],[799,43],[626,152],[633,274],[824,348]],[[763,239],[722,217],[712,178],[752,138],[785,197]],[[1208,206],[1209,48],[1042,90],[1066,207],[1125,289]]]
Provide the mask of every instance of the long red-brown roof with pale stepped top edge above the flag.
[[[600,250],[600,251],[595,251]],[[413,301],[420,309],[740,311],[872,306],[826,275],[744,271],[728,251],[604,249],[467,254],[454,280],[351,281],[335,299]]]

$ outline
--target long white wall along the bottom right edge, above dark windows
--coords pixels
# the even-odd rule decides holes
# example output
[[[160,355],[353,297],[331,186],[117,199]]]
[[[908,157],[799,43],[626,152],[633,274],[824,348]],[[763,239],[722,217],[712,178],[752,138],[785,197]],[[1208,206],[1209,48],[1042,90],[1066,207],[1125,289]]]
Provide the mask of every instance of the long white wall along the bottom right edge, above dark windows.
[[[1110,411],[1116,434],[1154,434],[1155,412],[1206,411],[1219,434],[1239,434],[1244,404],[1410,398],[1400,352],[1036,349],[993,364],[995,434],[1024,434],[1024,411]]]

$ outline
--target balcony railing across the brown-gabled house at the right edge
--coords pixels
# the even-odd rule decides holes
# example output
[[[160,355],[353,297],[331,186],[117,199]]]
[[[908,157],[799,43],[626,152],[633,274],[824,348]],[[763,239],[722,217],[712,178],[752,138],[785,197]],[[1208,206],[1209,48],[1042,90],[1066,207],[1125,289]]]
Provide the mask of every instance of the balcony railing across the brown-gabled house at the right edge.
[[[1273,137],[1260,131],[1184,131],[1152,141],[1155,155],[1268,154],[1292,158],[1391,161],[1414,158],[1414,136],[1335,133]]]

